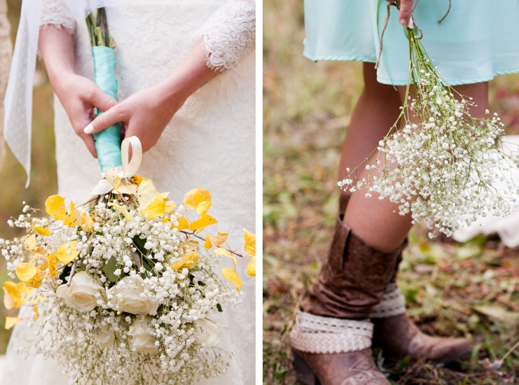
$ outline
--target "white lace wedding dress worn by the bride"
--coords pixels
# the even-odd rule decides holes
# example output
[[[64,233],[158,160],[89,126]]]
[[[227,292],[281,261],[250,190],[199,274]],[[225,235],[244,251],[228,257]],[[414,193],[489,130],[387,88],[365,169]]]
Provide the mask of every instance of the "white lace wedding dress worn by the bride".
[[[177,202],[188,190],[207,188],[212,193],[210,214],[219,221],[211,231],[225,230],[230,244],[243,244],[242,228],[255,230],[255,1],[111,3],[129,23],[127,31],[111,29],[119,100],[167,77],[200,39],[205,42],[207,64],[224,70],[177,112],[158,144],[144,154],[138,174],[152,179],[158,190],[170,191]],[[93,78],[85,23],[74,21],[64,0],[44,0],[41,20],[43,25],[60,25],[74,33],[76,71]],[[99,165],[74,133],[56,97],[54,110],[58,193],[82,200],[99,181]],[[242,303],[214,317],[230,329],[221,343],[223,349],[235,353],[230,372],[202,379],[200,384],[254,384],[255,280],[247,276],[245,263],[239,265],[244,283]],[[24,322],[13,330],[0,384],[68,384],[60,363],[41,356],[24,360],[16,353],[31,335]]]

